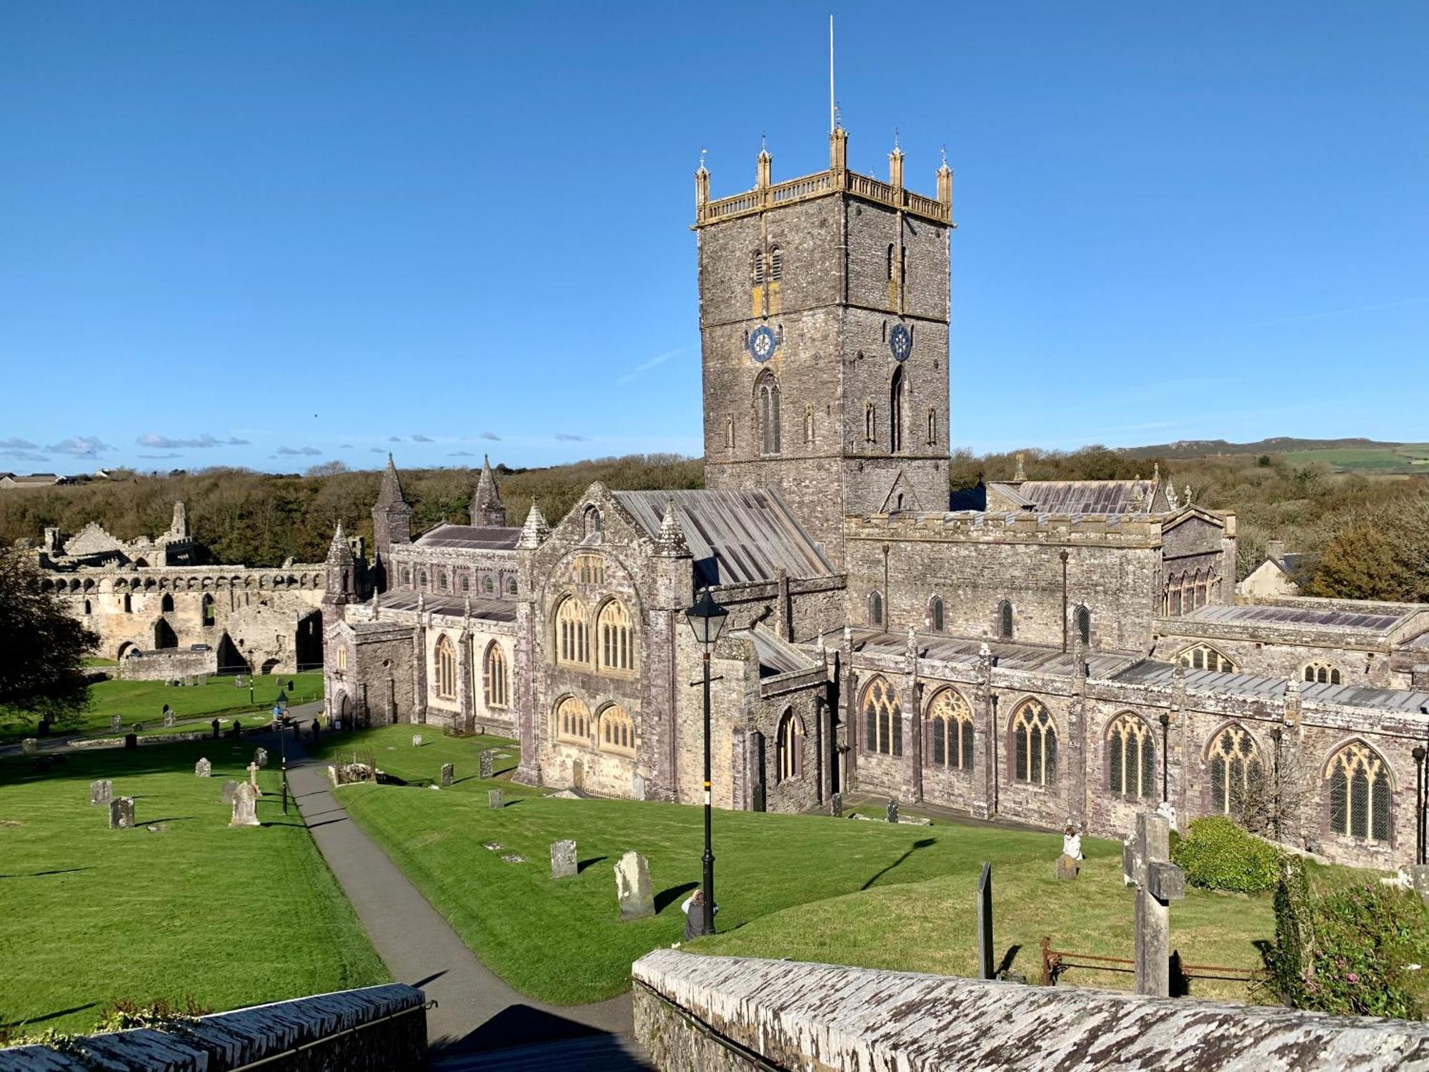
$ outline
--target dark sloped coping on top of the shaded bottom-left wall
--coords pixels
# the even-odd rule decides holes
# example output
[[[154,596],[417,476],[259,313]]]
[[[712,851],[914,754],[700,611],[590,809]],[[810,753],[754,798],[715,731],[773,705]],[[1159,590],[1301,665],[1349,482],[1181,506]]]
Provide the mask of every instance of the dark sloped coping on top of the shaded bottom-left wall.
[[[337,991],[201,1016],[176,1029],[120,1031],[80,1041],[84,1055],[49,1046],[0,1049],[0,1072],[163,1069],[227,1072],[394,1013],[420,1009],[422,991],[403,983]]]

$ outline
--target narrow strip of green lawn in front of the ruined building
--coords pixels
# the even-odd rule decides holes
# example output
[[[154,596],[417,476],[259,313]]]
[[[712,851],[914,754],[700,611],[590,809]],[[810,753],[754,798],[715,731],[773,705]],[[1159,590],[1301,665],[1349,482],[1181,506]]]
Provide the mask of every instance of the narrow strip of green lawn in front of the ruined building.
[[[293,706],[319,700],[323,698],[323,672],[310,670],[307,673],[259,675],[252,678],[253,703],[249,703],[247,685],[239,689],[233,685],[233,678],[210,678],[207,685],[171,686],[163,682],[123,682],[110,679],[90,686],[90,706],[80,716],[74,726],[64,728],[66,732],[109,733],[111,715],[119,715],[124,726],[141,722],[146,729],[163,725],[163,710],[167,703],[177,712],[180,719],[200,718],[207,722],[216,715],[224,719],[239,718],[249,722],[246,716],[260,716],[267,722],[267,712],[272,710],[279,690],[287,692],[287,683],[297,688],[289,692]],[[250,680],[244,676],[244,682]],[[191,726],[190,729],[201,729]],[[34,736],[36,720],[33,715],[19,712],[0,712],[0,742],[19,740]]]

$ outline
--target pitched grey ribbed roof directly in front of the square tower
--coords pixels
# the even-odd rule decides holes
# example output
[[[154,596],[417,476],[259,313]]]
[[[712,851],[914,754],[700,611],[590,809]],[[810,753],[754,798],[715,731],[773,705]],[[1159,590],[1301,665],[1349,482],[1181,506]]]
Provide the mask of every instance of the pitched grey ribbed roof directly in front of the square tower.
[[[702,585],[773,580],[780,569],[790,577],[835,573],[783,499],[769,489],[612,495],[652,540],[659,536],[666,503],[673,497]]]

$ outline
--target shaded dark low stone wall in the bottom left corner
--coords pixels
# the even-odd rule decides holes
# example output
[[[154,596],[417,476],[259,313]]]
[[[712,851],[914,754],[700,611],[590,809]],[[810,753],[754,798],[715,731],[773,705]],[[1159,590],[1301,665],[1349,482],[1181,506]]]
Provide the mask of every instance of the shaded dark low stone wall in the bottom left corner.
[[[220,1012],[166,1029],[0,1049],[0,1072],[386,1072],[426,1068],[422,991],[389,983]]]

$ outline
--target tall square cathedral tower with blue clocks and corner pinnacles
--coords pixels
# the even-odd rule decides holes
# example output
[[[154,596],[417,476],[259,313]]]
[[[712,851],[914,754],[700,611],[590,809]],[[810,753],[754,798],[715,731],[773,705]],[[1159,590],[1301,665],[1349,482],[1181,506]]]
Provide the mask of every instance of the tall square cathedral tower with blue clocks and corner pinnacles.
[[[706,487],[775,487],[843,563],[849,513],[947,509],[953,174],[937,197],[829,170],[709,199],[694,173]]]

